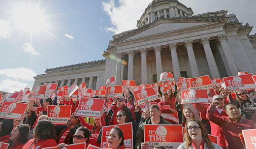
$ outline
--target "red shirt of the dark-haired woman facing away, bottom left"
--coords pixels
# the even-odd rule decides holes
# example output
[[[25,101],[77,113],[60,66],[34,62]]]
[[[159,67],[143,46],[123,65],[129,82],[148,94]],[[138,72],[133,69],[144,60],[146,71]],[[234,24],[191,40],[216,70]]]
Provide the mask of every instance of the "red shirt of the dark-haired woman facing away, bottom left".
[[[32,146],[32,148],[30,148]],[[57,143],[55,139],[40,139],[36,142],[35,139],[29,140],[22,149],[42,149],[47,147],[56,147]]]

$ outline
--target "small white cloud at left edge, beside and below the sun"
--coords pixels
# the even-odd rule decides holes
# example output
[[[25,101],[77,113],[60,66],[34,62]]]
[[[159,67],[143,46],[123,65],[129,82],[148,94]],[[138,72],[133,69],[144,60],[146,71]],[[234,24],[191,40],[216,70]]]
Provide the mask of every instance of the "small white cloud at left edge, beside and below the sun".
[[[10,26],[10,22],[0,20],[0,39],[10,37],[12,30],[13,28]]]

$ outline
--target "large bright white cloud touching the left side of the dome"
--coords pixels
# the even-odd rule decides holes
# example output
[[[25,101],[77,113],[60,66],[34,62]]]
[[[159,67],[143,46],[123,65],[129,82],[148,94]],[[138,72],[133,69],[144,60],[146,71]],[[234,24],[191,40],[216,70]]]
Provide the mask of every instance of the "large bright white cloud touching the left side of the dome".
[[[137,20],[141,17],[145,8],[152,0],[119,0],[120,6],[116,7],[114,0],[102,2],[104,11],[110,17],[115,26],[106,30],[120,33],[126,30],[136,29]]]

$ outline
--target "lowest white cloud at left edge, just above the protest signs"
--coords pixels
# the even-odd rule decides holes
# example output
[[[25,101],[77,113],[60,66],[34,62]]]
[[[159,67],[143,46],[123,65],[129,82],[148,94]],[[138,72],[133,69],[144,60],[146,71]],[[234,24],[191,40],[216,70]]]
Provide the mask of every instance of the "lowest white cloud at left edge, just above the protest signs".
[[[21,89],[24,89],[27,86],[28,84],[26,83],[6,79],[0,83],[0,90],[4,90],[7,92],[14,92],[14,91],[20,91]]]

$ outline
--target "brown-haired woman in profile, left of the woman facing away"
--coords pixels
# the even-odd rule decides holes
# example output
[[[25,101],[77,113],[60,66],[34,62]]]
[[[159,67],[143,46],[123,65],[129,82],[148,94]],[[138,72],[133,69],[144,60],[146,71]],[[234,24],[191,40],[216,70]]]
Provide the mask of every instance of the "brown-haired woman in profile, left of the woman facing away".
[[[11,132],[9,149],[22,149],[28,141],[30,128],[26,124],[17,125]]]

